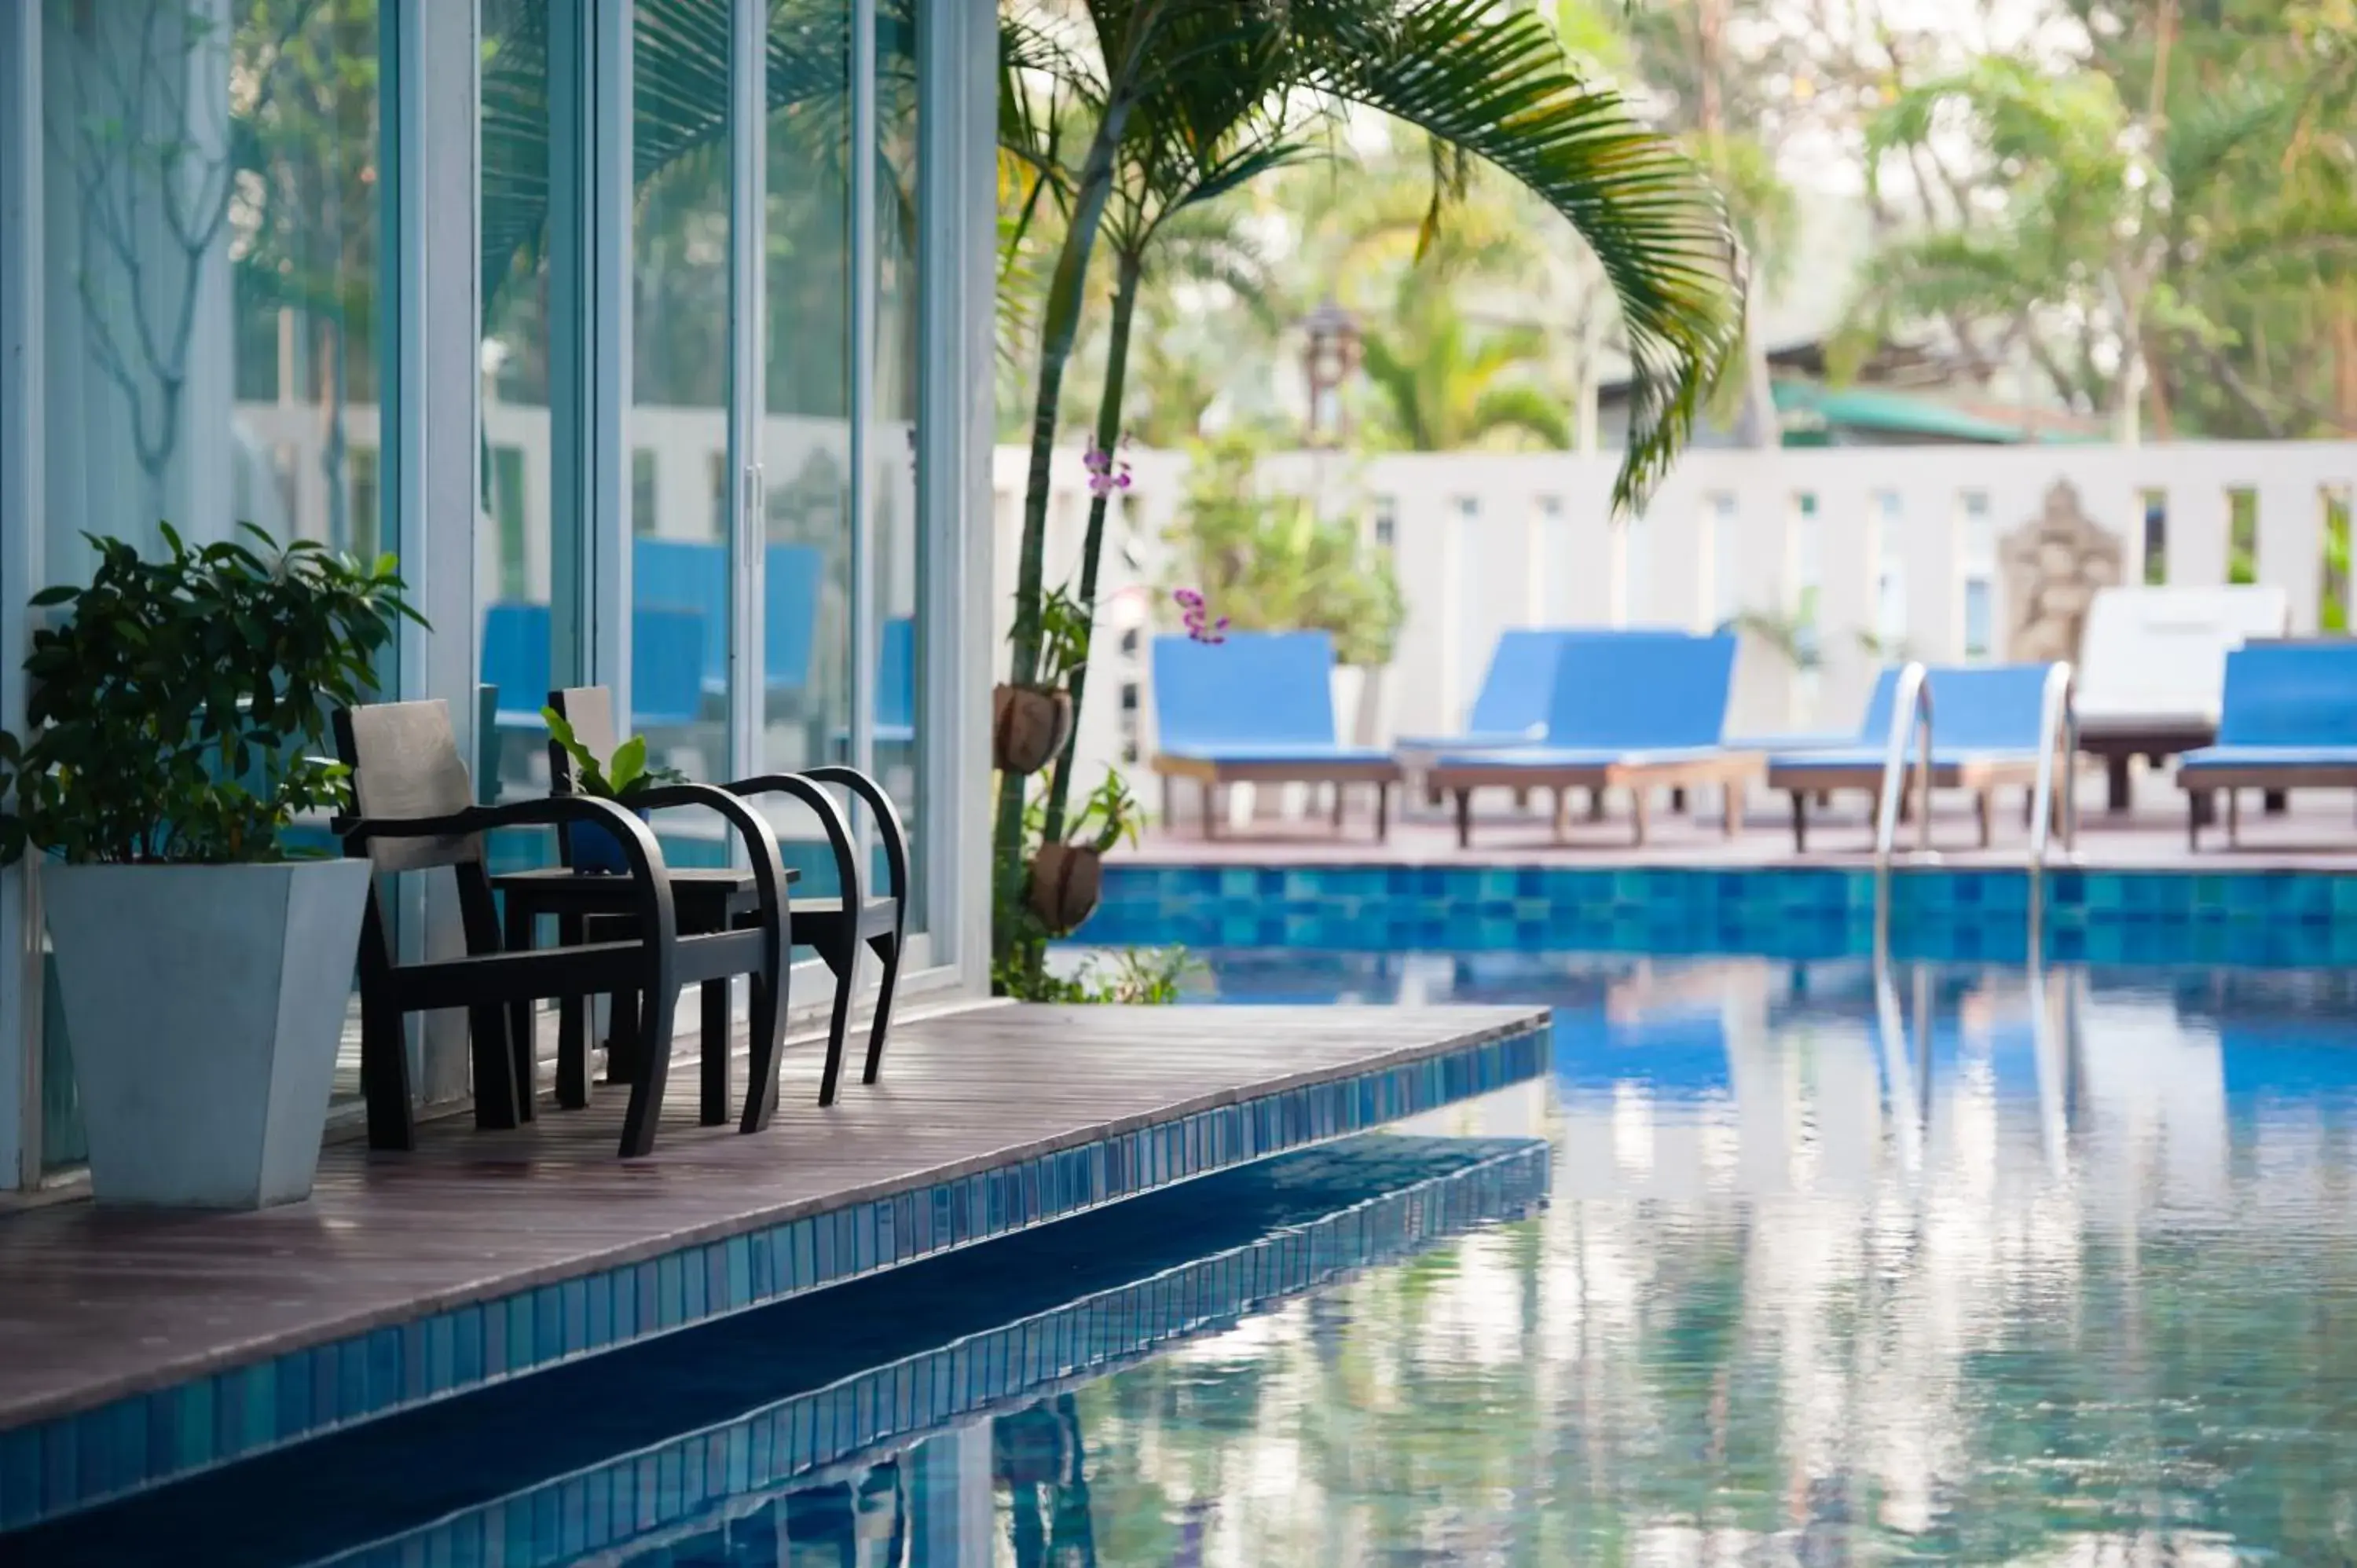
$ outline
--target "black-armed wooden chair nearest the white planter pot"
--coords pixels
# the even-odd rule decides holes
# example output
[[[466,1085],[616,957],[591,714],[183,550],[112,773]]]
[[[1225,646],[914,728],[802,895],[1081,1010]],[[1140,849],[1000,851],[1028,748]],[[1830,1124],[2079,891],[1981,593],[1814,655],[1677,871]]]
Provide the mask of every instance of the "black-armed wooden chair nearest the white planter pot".
[[[778,839],[757,811],[719,790],[660,790],[648,806],[700,804],[728,816],[745,837],[759,910],[742,929],[681,936],[672,875],[655,835],[634,813],[587,795],[474,804],[443,703],[377,703],[335,714],[335,745],[351,769],[356,813],[337,823],[346,856],[368,856],[379,875],[450,868],[457,877],[462,957],[398,964],[382,901],[370,889],[361,927],[361,1087],[368,1141],[412,1148],[410,1068],[401,1016],[464,1007],[474,1059],[478,1127],[516,1127],[533,1115],[530,1007],[547,997],[629,990],[639,997],[643,1052],[622,1118],[622,1155],[655,1146],[672,1061],[672,1012],[681,986],[754,976],[754,1037],[775,1049],[785,1019],[785,868]],[[483,865],[493,828],[592,823],[620,842],[629,863],[632,936],[570,948],[507,950]],[[516,1021],[526,1028],[516,1028]]]

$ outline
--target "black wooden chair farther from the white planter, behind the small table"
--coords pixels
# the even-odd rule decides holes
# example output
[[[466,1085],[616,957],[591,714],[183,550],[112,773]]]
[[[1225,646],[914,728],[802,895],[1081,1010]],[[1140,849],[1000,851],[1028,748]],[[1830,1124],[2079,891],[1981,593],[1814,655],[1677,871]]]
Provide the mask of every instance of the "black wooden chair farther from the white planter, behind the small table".
[[[618,736],[613,722],[613,696],[603,686],[552,691],[549,707],[563,714],[566,724],[573,726],[573,736],[589,747],[592,755],[613,755]],[[573,788],[570,757],[566,757],[563,747],[554,743],[549,745],[549,780],[556,790]],[[839,785],[874,811],[877,837],[884,844],[884,868],[891,879],[891,889],[886,894],[863,891],[865,879],[860,877],[858,854],[851,844],[851,825],[846,823],[841,806],[834,804],[834,797],[827,795],[823,785]],[[792,946],[816,950],[834,974],[834,1014],[827,1023],[827,1061],[818,1078],[818,1103],[832,1106],[841,1080],[844,1037],[851,1028],[851,995],[858,981],[860,948],[872,950],[884,964],[884,974],[877,981],[874,1019],[867,1026],[867,1059],[860,1070],[860,1082],[872,1085],[884,1070],[884,1037],[891,1030],[891,1002],[893,988],[900,981],[900,950],[907,929],[907,837],[900,830],[900,813],[893,809],[891,795],[886,795],[877,780],[867,778],[867,773],[832,764],[808,769],[804,773],[764,773],[759,778],[740,778],[717,788],[733,797],[790,795],[818,816],[818,825],[827,835],[827,849],[834,858],[834,879],[841,891],[837,898],[794,898]],[[674,872],[674,877],[679,875],[681,872]],[[738,872],[709,875],[731,877]],[[622,997],[618,997],[615,1012],[622,1019],[629,1016],[629,1007]],[[618,1040],[618,1045],[625,1045],[627,1049],[627,1040]],[[709,1073],[709,1052],[705,1061]],[[726,1066],[721,1070],[726,1073]],[[764,1056],[757,1045],[745,1094],[745,1127],[752,1129],[766,1122],[775,1101],[775,1052]]]

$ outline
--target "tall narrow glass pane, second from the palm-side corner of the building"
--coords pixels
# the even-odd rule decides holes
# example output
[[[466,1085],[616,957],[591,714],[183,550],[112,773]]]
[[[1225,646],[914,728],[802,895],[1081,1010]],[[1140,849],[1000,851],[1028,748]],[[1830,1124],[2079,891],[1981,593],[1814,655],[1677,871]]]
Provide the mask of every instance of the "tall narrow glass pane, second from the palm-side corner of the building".
[[[764,769],[841,755],[851,729],[851,2],[768,12],[764,191]],[[778,806],[797,894],[839,891],[799,806]]]

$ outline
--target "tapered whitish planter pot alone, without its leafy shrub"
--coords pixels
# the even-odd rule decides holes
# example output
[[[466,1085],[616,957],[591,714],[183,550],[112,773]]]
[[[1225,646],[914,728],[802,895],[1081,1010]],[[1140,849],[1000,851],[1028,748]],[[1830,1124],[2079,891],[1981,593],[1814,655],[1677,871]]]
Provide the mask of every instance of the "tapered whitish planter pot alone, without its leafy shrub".
[[[311,1195],[368,861],[45,865],[99,1203]]]

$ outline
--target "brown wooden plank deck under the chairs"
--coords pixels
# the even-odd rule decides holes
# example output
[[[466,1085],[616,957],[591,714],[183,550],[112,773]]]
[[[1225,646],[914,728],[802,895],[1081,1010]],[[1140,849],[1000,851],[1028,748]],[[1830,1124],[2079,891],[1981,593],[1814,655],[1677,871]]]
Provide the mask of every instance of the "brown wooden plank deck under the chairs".
[[[818,1052],[790,1049],[754,1137],[698,1127],[695,1073],[674,1066],[648,1160],[613,1155],[613,1089],[516,1132],[434,1122],[415,1153],[330,1146],[311,1203],[283,1210],[19,1212],[0,1219],[0,1429],[1539,1023],[1508,1007],[978,1007],[900,1023],[884,1082],[827,1111]]]

